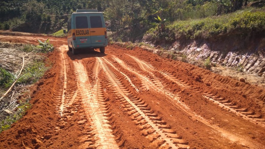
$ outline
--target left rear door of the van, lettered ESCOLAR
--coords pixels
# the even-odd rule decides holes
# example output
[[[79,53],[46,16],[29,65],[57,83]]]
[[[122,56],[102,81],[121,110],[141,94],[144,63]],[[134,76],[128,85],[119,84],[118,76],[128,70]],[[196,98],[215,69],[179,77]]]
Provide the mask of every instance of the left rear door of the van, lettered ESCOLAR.
[[[76,44],[91,44],[88,15],[76,14],[75,25]]]

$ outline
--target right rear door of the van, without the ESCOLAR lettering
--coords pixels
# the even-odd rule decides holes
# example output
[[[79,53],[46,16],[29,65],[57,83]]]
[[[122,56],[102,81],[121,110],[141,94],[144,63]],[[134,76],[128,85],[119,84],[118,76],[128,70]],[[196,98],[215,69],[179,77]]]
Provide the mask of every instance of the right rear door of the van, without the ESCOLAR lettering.
[[[92,44],[105,43],[105,24],[101,14],[90,14],[90,35]]]

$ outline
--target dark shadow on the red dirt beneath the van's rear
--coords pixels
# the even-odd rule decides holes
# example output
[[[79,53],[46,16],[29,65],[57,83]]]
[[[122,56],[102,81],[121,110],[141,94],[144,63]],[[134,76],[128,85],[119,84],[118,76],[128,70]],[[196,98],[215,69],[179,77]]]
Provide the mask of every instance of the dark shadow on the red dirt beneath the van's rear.
[[[72,51],[67,51],[67,55],[71,58],[71,60],[81,60],[83,58],[96,58],[96,57],[104,57],[107,54],[100,53],[95,50],[86,50],[86,49],[80,49],[77,51],[76,55],[73,55]]]

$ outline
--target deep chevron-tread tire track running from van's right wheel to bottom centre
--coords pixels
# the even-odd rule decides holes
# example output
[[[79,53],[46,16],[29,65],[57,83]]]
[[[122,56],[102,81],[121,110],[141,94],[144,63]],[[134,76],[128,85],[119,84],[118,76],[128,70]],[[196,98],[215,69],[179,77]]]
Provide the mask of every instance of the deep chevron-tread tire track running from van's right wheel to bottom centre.
[[[172,130],[161,117],[158,117],[158,114],[153,113],[143,99],[137,97],[124,85],[122,78],[117,75],[118,69],[114,65],[105,58],[98,58],[98,61],[109,80],[108,86],[113,90],[116,99],[121,102],[121,106],[131,119],[142,130],[142,135],[158,147],[189,148],[186,145],[187,142],[182,140],[182,137],[178,136],[176,131]],[[120,73],[120,71],[118,72]]]

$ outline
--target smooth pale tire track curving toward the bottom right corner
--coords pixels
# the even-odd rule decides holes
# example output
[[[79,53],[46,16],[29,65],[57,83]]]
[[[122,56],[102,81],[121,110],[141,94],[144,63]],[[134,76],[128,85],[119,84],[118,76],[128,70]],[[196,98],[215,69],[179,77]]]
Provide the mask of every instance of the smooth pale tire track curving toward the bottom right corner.
[[[247,146],[249,148],[262,148],[262,146],[264,146],[264,145],[258,145],[257,142],[252,142],[251,139],[246,139],[243,136],[240,136],[238,134],[232,134],[232,133],[230,133],[230,132],[228,132],[228,131],[226,131],[226,130],[224,130],[224,129],[216,126],[216,125],[212,125],[210,122],[208,122],[206,119],[204,119],[200,115],[197,115],[196,113],[190,111],[189,107],[179,100],[180,98],[178,95],[170,93],[166,89],[166,87],[163,85],[163,83],[160,81],[160,79],[155,77],[155,75],[150,71],[150,68],[144,67],[144,64],[143,64],[144,62],[142,62],[141,60],[138,60],[137,58],[132,56],[132,58],[136,61],[136,63],[138,63],[138,66],[140,68],[144,68],[141,70],[143,70],[143,71],[145,71],[145,72],[147,72],[153,76],[152,79],[150,79],[149,77],[146,77],[144,75],[141,75],[140,72],[137,72],[137,70],[130,67],[130,65],[128,63],[120,60],[119,58],[115,57],[114,55],[111,55],[111,56],[113,57],[112,60],[116,61],[124,69],[127,69],[128,71],[137,75],[143,83],[143,88],[150,89],[154,92],[157,92],[158,94],[164,95],[168,101],[170,101],[173,105],[175,105],[181,111],[186,113],[189,117],[193,117],[193,118],[197,119],[198,121],[204,123],[205,125],[213,128],[214,130],[219,132],[221,134],[221,136],[229,139],[231,142],[235,142],[235,143]],[[112,60],[110,60],[110,61],[112,61]],[[141,91],[141,89],[140,89],[140,91]]]

